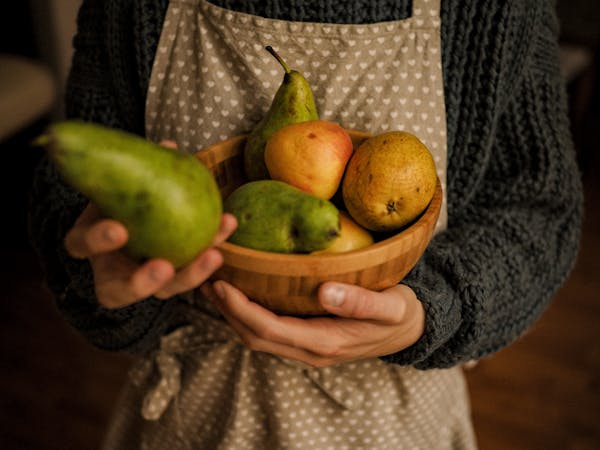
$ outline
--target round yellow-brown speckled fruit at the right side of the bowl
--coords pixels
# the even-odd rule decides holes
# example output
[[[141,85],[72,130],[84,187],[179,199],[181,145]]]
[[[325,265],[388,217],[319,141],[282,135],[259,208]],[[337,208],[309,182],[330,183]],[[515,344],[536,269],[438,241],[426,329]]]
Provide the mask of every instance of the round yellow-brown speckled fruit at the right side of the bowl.
[[[390,131],[364,141],[342,182],[352,218],[371,231],[392,231],[421,214],[435,192],[437,172],[427,147],[413,134]]]

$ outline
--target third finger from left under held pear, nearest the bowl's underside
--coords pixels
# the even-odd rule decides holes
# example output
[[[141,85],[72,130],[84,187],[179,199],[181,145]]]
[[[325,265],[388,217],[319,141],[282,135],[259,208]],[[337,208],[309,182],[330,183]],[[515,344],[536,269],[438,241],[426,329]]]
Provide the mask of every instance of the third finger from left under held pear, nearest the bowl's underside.
[[[195,289],[204,283],[222,264],[223,256],[221,253],[214,248],[210,248],[177,272],[169,283],[154,295],[157,298],[166,299]]]

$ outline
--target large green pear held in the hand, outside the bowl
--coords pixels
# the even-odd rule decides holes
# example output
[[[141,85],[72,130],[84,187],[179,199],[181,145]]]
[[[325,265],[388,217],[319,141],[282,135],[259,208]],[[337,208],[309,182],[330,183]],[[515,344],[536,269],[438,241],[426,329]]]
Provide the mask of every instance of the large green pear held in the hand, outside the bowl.
[[[211,244],[222,201],[194,156],[79,121],[53,124],[41,140],[64,180],[125,225],[134,259],[165,258],[179,268]]]

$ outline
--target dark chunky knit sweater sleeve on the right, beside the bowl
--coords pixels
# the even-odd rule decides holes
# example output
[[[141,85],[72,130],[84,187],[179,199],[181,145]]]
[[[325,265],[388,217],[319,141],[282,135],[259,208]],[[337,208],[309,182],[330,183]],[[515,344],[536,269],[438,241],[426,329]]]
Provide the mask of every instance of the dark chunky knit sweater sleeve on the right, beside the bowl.
[[[403,281],[425,307],[425,333],[384,357],[388,362],[440,368],[499,350],[539,318],[574,265],[582,186],[556,21],[545,14],[518,82],[505,94],[476,191],[458,213],[449,210],[447,231]],[[476,177],[481,168],[473,166]]]

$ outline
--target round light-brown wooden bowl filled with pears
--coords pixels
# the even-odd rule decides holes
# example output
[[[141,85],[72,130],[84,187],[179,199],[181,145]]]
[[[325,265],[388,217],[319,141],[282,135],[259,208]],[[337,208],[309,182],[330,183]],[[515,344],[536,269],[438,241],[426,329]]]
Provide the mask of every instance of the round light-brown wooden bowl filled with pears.
[[[354,147],[370,137],[349,131]],[[245,182],[243,148],[246,136],[236,136],[207,147],[198,158],[212,171],[226,198]],[[281,254],[253,250],[229,242],[219,246],[224,264],[215,275],[272,311],[292,315],[320,315],[318,286],[335,280],[383,290],[400,282],[414,267],[433,235],[442,204],[438,180],[427,209],[410,226],[374,244],[346,253]]]

